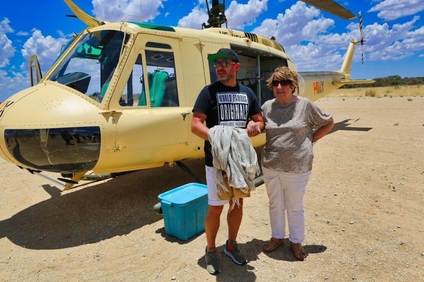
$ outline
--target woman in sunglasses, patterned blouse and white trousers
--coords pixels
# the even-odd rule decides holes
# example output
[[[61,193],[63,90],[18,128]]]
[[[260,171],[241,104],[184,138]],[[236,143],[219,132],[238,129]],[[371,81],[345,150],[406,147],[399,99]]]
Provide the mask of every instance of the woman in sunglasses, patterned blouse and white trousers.
[[[331,130],[334,121],[311,100],[294,94],[298,84],[297,73],[287,67],[277,68],[267,80],[275,99],[262,105],[266,142],[261,164],[272,237],[263,250],[272,252],[283,243],[287,213],[289,241],[296,259],[303,261],[308,256],[302,246],[303,197],[312,170],[312,145]],[[318,129],[313,133],[314,126]]]

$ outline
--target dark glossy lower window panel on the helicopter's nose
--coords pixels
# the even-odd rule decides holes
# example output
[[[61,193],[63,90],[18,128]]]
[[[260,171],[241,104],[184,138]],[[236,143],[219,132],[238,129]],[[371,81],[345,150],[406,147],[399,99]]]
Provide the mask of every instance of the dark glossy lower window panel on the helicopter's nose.
[[[15,161],[35,170],[91,170],[100,155],[100,127],[6,129],[4,141]]]

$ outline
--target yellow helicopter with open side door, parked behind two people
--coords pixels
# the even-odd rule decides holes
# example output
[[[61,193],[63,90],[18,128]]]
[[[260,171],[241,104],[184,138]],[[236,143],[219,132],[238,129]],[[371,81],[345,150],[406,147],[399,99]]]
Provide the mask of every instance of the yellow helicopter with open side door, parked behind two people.
[[[202,29],[151,23],[106,22],[64,0],[87,28],[61,50],[41,75],[29,58],[31,87],[0,104],[0,157],[44,176],[64,190],[83,177],[181,164],[204,157],[204,140],[191,133],[199,91],[217,80],[208,55],[220,48],[238,53],[237,81],[253,89],[260,104],[273,98],[265,80],[277,67],[297,71],[275,38],[222,27],[225,1],[212,0]],[[355,16],[334,1],[304,1],[345,19]],[[361,31],[362,37],[362,31]],[[298,72],[296,89],[312,101],[351,80],[355,45],[340,70]],[[244,121],[245,122],[245,121]],[[254,147],[265,135],[251,138]]]

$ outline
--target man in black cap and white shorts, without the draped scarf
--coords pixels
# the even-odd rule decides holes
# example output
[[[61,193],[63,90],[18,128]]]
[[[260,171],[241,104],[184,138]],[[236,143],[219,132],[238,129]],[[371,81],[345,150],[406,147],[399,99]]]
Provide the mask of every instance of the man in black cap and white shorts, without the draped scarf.
[[[211,274],[220,272],[215,246],[216,234],[219,228],[219,217],[226,204],[231,200],[220,200],[216,193],[213,177],[211,143],[208,131],[215,125],[245,128],[249,137],[260,134],[264,129],[261,107],[253,91],[236,81],[236,73],[240,68],[239,57],[231,49],[222,48],[217,53],[208,56],[213,63],[219,80],[205,86],[200,92],[193,108],[192,133],[205,139],[206,179],[208,184],[209,209],[205,217],[205,232],[207,247],[205,252],[206,268]],[[248,119],[255,123],[246,128]],[[206,125],[204,122],[206,121]],[[239,199],[227,213],[228,240],[224,253],[236,264],[247,263],[246,257],[237,246],[237,233],[242,218],[243,198]]]

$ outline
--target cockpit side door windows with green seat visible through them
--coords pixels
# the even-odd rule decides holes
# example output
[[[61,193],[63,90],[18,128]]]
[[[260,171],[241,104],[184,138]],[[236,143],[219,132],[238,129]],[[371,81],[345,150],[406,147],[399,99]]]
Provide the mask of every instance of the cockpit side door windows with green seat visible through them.
[[[150,107],[155,108],[179,106],[174,53],[158,50],[169,50],[171,47],[154,42],[148,42],[146,47],[155,48],[155,50],[147,49],[145,53],[147,73],[143,73],[142,58],[138,55],[119,104],[147,106],[149,102]]]

